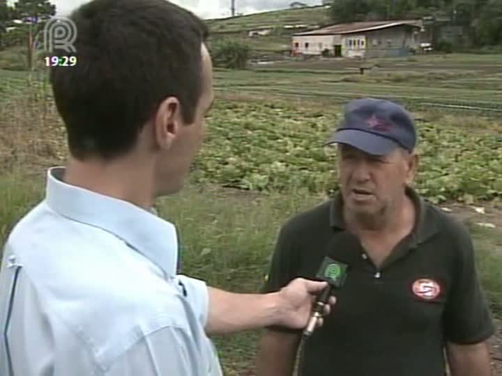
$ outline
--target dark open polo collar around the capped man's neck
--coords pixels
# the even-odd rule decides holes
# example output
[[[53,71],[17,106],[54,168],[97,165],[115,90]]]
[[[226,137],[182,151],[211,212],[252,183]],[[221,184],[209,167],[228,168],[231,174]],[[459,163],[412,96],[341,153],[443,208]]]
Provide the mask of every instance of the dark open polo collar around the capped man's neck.
[[[406,187],[406,195],[411,198],[417,211],[416,224],[411,233],[411,248],[425,242],[432,237],[439,229],[435,217],[430,214],[424,199],[411,187]],[[346,225],[343,219],[343,199],[342,194],[337,193],[330,203],[330,226],[339,230],[344,230]]]

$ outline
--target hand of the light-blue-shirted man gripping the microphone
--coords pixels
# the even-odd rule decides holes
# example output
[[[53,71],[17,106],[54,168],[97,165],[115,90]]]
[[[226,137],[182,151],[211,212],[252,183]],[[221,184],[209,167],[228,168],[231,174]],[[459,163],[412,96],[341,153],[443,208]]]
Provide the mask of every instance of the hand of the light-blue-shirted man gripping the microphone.
[[[303,329],[312,313],[312,303],[315,296],[328,286],[326,282],[310,281],[307,279],[294,279],[282,288],[277,294],[277,322],[276,325],[290,327],[292,329]],[[324,315],[330,313],[330,306],[336,303],[335,297],[330,297],[328,304],[324,306]],[[318,322],[320,327],[323,324],[321,318]]]

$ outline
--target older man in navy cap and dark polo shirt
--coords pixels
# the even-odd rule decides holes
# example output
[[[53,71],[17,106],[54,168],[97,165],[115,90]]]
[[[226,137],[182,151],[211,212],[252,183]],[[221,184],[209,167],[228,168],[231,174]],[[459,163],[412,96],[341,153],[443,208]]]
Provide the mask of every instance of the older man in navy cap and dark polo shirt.
[[[314,277],[326,253],[348,264],[337,308],[303,347],[305,376],[489,376],[494,333],[469,233],[411,187],[418,157],[409,113],[386,100],[349,103],[329,143],[340,192],[283,226],[264,291]],[[356,238],[344,248],[342,234]],[[347,235],[345,235],[347,236]],[[290,376],[297,330],[269,327],[259,376]]]

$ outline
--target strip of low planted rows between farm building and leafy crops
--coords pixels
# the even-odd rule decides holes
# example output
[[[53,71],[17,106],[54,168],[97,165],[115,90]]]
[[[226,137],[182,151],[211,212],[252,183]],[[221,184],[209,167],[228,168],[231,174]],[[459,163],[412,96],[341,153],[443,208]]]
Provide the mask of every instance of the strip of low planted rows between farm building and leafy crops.
[[[360,75],[360,65],[379,68]],[[277,62],[245,72],[218,70],[215,77],[216,88],[222,93],[274,93],[339,103],[370,95],[398,100],[413,108],[502,109],[500,55],[414,56],[411,61],[402,58],[364,63],[335,59]]]

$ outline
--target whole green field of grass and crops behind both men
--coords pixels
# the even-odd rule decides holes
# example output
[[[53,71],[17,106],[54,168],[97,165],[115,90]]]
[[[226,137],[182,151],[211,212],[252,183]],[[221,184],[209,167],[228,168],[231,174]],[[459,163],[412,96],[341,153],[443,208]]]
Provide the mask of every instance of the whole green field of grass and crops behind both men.
[[[383,60],[381,70],[368,76],[344,62],[216,70],[217,100],[192,178],[181,194],[158,203],[160,215],[180,231],[183,272],[227,290],[257,291],[277,230],[292,215],[326,200],[336,185],[336,155],[321,143],[340,119],[342,104],[378,95],[408,104],[417,118],[418,189],[441,206],[460,203],[456,215],[475,216],[468,223],[482,284],[494,312],[502,313],[498,57]],[[0,70],[0,242],[42,198],[45,169],[66,157],[50,92],[26,77]],[[487,214],[472,205],[485,207]],[[252,375],[247,370],[258,336],[259,331],[248,331],[215,338],[225,375]]]

